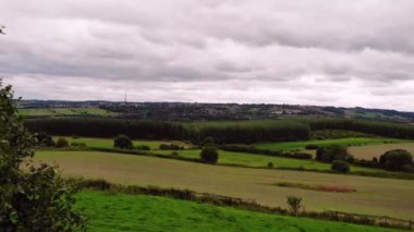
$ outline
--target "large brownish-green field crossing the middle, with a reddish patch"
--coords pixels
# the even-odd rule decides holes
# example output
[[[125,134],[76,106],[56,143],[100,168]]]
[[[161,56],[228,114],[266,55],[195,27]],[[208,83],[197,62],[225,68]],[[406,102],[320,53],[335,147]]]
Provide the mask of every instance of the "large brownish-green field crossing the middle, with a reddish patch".
[[[414,215],[414,184],[406,180],[220,167],[96,151],[38,151],[35,158],[59,164],[65,174],[101,178],[121,184],[188,188],[256,199],[269,206],[284,206],[285,196],[296,195],[304,198],[307,210],[340,210],[403,219]],[[281,181],[343,186],[356,190],[356,193],[275,185]]]

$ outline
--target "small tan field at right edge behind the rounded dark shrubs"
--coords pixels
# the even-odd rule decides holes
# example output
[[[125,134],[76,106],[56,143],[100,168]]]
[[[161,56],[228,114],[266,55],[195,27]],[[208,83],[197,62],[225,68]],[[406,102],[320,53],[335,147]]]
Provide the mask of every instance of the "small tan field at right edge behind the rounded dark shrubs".
[[[379,158],[382,154],[392,149],[406,149],[411,154],[414,154],[414,143],[402,143],[402,144],[380,144],[380,145],[368,145],[361,147],[351,147],[349,149],[355,158],[358,159],[373,159],[374,157]]]

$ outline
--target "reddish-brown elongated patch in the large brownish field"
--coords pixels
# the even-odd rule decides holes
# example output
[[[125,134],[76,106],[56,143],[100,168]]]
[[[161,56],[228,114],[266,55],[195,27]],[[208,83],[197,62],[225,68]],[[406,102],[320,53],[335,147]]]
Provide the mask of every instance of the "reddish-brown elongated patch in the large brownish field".
[[[327,185],[327,184],[301,184],[301,183],[291,183],[291,182],[279,182],[271,185],[279,187],[293,187],[308,191],[319,191],[319,192],[329,192],[329,193],[354,193],[356,190],[345,186],[338,185]]]

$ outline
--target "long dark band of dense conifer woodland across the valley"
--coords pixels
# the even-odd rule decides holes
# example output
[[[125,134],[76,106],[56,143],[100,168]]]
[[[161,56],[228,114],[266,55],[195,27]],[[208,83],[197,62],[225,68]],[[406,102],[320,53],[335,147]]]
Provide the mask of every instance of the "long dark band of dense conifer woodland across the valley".
[[[217,144],[307,141],[310,131],[345,130],[395,138],[414,138],[414,125],[346,119],[296,119],[234,122],[176,123],[102,118],[28,119],[31,132],[52,135],[114,137],[133,139],[180,139],[199,143],[214,137]]]

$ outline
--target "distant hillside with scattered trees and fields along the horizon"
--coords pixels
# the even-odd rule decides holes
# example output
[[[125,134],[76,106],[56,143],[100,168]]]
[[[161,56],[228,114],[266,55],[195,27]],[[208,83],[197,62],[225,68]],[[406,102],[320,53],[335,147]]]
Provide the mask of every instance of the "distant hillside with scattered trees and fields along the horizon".
[[[414,112],[386,109],[258,103],[117,102],[23,100],[25,117],[121,117],[167,121],[333,117],[414,123]]]

